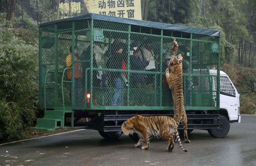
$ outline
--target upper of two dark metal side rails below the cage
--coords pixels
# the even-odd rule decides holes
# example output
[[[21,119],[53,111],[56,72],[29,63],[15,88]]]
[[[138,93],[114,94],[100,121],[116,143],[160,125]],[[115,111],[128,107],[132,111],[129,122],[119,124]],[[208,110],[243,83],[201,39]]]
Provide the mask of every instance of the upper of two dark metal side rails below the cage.
[[[136,115],[104,115],[104,121],[125,121],[133,116]],[[173,117],[173,115],[141,115],[141,116],[170,116]],[[196,120],[196,119],[219,119],[219,114],[212,114],[212,115],[206,115],[206,114],[187,114],[188,120]]]

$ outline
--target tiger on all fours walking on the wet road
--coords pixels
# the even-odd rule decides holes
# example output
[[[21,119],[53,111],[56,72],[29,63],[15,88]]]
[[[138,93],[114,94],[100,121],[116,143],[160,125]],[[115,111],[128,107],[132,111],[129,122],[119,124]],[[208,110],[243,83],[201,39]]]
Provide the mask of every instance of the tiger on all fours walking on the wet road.
[[[187,152],[181,145],[177,124],[175,120],[169,116],[133,116],[122,124],[120,132],[125,135],[134,132],[137,133],[140,136],[140,139],[134,147],[140,147],[145,142],[146,145],[142,146],[142,149],[149,148],[150,138],[163,138],[169,140],[169,144],[166,148],[167,151],[172,151],[174,147],[173,135],[175,134],[179,141],[180,148],[184,152]]]

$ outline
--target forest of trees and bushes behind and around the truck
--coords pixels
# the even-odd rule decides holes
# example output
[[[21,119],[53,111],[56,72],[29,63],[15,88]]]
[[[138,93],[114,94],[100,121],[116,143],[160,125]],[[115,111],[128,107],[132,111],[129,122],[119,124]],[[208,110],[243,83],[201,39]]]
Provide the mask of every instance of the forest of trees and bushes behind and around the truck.
[[[63,18],[60,0],[0,0],[0,140],[26,136],[38,107],[38,25]],[[70,0],[68,0],[70,1]],[[67,17],[85,14],[68,12]],[[149,10],[150,9],[150,10]],[[221,70],[237,91],[256,80],[255,0],[141,0],[142,20],[221,31]],[[241,114],[256,114],[256,94],[240,93]]]

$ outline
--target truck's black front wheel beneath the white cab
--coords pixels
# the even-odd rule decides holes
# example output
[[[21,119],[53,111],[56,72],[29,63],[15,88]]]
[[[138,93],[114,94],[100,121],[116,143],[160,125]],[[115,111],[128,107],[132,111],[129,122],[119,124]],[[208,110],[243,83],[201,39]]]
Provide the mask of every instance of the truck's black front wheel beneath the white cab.
[[[219,123],[220,123],[220,129],[208,129],[208,133],[214,137],[214,138],[223,138],[228,134],[228,131],[230,129],[230,124],[228,119],[220,115],[219,116]]]

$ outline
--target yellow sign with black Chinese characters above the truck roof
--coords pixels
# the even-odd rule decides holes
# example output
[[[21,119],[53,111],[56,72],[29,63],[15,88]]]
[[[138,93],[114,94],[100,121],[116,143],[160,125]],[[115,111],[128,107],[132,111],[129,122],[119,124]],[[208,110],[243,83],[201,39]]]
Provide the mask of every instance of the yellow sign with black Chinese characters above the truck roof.
[[[140,0],[84,0],[89,13],[141,20]]]

